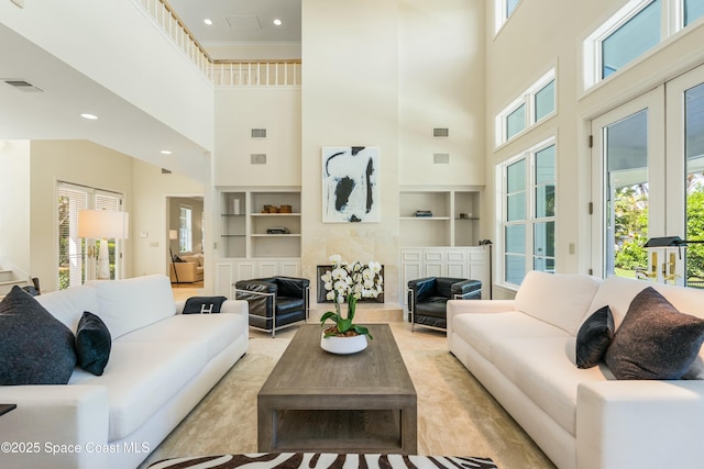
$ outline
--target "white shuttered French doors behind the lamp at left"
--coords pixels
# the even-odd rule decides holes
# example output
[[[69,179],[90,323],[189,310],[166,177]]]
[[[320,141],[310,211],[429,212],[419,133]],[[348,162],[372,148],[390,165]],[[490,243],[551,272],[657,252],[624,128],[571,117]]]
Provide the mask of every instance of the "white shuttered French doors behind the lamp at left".
[[[78,236],[78,212],[86,209],[122,210],[122,194],[85,186],[58,182],[58,288],[82,284],[97,277],[96,239]],[[122,250],[119,239],[108,241],[110,278],[121,277]]]

